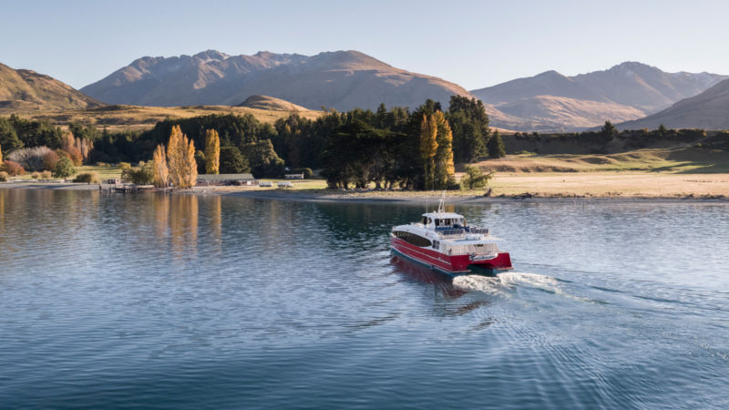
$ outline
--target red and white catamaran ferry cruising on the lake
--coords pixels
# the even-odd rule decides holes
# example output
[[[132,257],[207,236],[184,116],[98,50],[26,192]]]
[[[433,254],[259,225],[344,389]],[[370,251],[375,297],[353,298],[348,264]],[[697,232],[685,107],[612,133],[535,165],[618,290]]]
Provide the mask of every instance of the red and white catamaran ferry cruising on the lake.
[[[468,226],[463,215],[446,212],[444,202],[445,193],[436,212],[393,227],[392,251],[449,275],[513,269],[508,252],[498,250],[488,229]]]

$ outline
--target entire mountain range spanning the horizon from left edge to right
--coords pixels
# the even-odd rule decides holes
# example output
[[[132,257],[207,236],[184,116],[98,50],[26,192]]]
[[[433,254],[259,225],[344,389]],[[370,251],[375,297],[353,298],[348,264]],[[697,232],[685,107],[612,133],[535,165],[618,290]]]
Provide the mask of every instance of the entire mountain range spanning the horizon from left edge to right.
[[[724,86],[729,88],[729,83],[722,86],[726,78],[705,72],[667,73],[625,62],[573,77],[547,71],[469,92],[351,50],[315,56],[229,56],[208,50],[194,56],[141,57],[80,92],[52,77],[0,65],[0,111],[94,108],[105,103],[344,111],[374,109],[381,103],[416,108],[426,98],[447,108],[449,98],[460,95],[481,99],[493,126],[517,131],[574,131],[605,120],[622,128],[653,127],[656,121],[667,127],[715,128],[724,124],[723,107],[729,108],[723,97]],[[694,108],[699,106],[711,109]]]

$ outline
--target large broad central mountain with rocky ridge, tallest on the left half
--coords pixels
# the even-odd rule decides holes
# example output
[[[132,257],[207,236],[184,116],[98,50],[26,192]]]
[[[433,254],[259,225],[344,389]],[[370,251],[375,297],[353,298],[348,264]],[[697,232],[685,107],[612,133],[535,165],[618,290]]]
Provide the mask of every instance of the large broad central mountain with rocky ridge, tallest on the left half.
[[[338,110],[380,103],[416,108],[426,98],[447,107],[452,95],[470,96],[441,78],[392,67],[357,51],[228,56],[208,50],[194,56],[147,56],[81,90],[109,104],[236,105],[251,95],[266,95],[305,108]]]

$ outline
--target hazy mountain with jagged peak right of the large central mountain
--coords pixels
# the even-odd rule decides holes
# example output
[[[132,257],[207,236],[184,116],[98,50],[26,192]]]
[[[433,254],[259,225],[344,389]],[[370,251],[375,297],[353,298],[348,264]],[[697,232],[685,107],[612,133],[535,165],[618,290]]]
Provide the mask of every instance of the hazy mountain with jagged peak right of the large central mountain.
[[[729,78],[710,73],[666,73],[625,62],[603,71],[566,77],[547,71],[471,94],[505,114],[538,125],[537,130],[575,130],[605,120],[642,118]],[[568,98],[568,99],[564,99]],[[499,125],[498,121],[495,125]],[[519,130],[531,130],[515,128]]]

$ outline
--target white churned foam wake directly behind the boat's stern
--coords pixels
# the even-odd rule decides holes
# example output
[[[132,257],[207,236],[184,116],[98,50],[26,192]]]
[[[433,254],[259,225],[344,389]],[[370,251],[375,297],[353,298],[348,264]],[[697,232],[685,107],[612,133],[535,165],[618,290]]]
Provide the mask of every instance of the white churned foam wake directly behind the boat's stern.
[[[547,275],[525,272],[504,272],[496,276],[463,275],[453,279],[453,286],[469,292],[508,294],[519,287],[549,292],[580,302],[601,302],[576,296],[563,289],[563,282]]]

